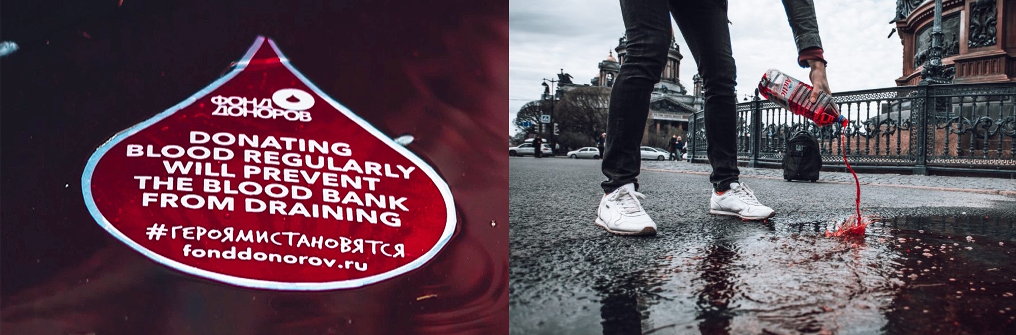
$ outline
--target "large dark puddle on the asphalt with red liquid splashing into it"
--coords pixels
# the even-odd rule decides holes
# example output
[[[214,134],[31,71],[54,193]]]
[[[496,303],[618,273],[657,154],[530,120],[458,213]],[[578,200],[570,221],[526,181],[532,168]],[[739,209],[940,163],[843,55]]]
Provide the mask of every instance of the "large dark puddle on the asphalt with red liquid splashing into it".
[[[883,218],[853,240],[759,224],[564,288],[575,315],[513,312],[539,321],[512,333],[1016,334],[1016,217]]]

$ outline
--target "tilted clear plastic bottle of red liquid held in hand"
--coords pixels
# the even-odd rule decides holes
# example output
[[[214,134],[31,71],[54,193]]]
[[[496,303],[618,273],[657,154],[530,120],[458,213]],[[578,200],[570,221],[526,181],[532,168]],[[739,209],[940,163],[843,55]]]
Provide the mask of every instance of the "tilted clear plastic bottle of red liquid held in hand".
[[[839,115],[836,102],[825,92],[819,92],[818,100],[811,100],[812,86],[779,72],[769,69],[759,81],[759,92],[770,102],[787,109],[790,113],[814,121],[819,127],[838,123],[843,127],[850,121]]]

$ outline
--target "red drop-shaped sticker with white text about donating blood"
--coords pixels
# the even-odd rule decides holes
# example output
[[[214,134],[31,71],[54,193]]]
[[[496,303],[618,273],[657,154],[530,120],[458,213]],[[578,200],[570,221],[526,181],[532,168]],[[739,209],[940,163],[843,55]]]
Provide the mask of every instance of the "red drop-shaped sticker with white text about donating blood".
[[[430,165],[260,37],[230,73],[100,146],[81,187],[99,224],[141,254],[255,288],[389,279],[456,225]]]

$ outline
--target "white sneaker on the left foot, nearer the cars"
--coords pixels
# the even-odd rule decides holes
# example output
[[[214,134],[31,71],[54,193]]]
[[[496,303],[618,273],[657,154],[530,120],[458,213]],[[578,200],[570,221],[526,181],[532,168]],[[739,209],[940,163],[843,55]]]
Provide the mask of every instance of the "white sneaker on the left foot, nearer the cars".
[[[640,199],[645,199],[645,195],[635,192],[634,184],[626,184],[605,195],[596,211],[596,225],[616,234],[656,234],[656,223],[642,209]]]

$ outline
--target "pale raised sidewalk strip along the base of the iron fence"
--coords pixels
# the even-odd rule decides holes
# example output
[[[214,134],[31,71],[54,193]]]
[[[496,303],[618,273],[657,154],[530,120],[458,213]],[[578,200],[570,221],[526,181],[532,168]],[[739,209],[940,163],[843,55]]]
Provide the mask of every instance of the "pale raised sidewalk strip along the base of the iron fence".
[[[688,161],[642,161],[642,170],[675,172],[695,175],[709,175],[712,168],[706,163],[690,163]],[[779,169],[745,168],[741,166],[741,176],[749,178],[783,179],[783,171]],[[988,194],[1016,195],[1016,180],[1001,178],[950,177],[950,176],[913,176],[895,174],[858,174],[862,185],[899,186],[915,189],[933,189],[944,191],[962,191]],[[850,173],[822,172],[820,182],[850,183],[853,177]]]

